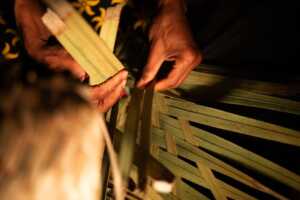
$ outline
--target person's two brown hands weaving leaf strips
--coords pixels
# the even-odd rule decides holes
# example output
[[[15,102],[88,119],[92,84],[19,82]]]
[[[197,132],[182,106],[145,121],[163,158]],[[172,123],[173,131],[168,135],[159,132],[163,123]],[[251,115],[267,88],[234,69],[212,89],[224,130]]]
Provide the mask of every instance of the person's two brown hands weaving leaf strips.
[[[172,70],[155,85],[155,90],[161,91],[178,87],[201,62],[202,56],[185,17],[184,0],[157,0],[157,5],[159,12],[152,20],[149,31],[147,64],[137,87],[144,88],[151,82],[164,61],[173,61]],[[47,45],[51,34],[41,21],[44,13],[45,8],[39,0],[15,0],[16,23],[28,54],[53,70],[67,70],[79,80],[86,80],[86,72],[66,50]],[[122,70],[103,84],[90,88],[91,99],[100,111],[107,111],[126,95],[127,75],[128,72]]]

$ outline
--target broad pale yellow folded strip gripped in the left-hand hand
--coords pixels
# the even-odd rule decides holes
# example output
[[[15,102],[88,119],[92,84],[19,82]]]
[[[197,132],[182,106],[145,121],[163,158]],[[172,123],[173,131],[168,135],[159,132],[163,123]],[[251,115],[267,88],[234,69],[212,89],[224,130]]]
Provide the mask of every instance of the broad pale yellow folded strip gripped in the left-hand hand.
[[[65,24],[64,29],[58,32],[57,29],[53,29],[53,26],[56,26],[55,22],[43,17],[43,21],[50,31],[63,46],[69,45],[69,43],[65,43],[65,40],[60,40],[59,37],[66,35],[77,51],[81,52],[81,55],[70,52],[77,62],[82,59],[78,57],[84,56],[92,63],[92,65],[79,63],[89,74],[91,85],[102,83],[123,68],[122,63],[113,55],[105,42],[97,36],[70,4],[64,0],[45,0],[45,2],[58,14],[59,17],[57,18],[61,18]],[[48,22],[46,22],[47,20]],[[52,27],[49,26],[51,23],[53,24]],[[69,49],[68,47],[65,48]]]

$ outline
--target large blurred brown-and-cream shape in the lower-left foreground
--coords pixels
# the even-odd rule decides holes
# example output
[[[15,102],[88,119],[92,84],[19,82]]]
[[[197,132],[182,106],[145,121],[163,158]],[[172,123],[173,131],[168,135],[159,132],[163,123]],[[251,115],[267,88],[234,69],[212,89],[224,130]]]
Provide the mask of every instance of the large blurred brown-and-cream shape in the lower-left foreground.
[[[99,113],[69,83],[1,83],[2,200],[99,198]]]

